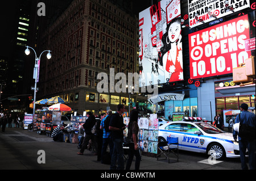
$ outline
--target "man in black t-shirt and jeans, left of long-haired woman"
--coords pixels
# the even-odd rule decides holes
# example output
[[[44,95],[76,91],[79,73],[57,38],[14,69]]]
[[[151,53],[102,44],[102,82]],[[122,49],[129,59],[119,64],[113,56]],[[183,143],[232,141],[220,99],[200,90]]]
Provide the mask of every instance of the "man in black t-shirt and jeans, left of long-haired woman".
[[[126,125],[123,124],[122,113],[125,112],[125,106],[123,104],[117,105],[117,112],[115,112],[109,123],[109,129],[111,131],[111,138],[114,144],[110,170],[123,170],[125,169],[125,162],[123,161],[123,130]],[[115,162],[117,161],[117,167]]]

